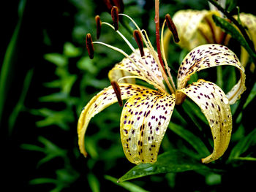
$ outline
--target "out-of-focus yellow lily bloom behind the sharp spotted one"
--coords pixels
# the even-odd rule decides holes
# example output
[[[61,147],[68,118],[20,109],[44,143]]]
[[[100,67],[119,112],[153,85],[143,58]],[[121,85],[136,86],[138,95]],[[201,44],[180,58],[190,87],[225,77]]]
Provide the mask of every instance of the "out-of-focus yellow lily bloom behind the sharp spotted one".
[[[179,10],[173,15],[173,22],[176,23],[176,28],[180,37],[178,45],[187,50],[192,50],[199,45],[217,43],[227,45],[230,41],[230,35],[222,31],[221,28],[216,26],[212,15],[221,16],[217,10]],[[238,19],[238,15],[234,18]],[[252,14],[241,13],[239,14],[242,26],[246,28],[249,38],[255,45],[256,49],[256,17]],[[170,37],[172,33],[166,31],[165,33],[165,51],[169,46]],[[240,61],[242,66],[246,66],[249,61],[249,55],[241,47]],[[254,66],[254,65],[253,65]]]

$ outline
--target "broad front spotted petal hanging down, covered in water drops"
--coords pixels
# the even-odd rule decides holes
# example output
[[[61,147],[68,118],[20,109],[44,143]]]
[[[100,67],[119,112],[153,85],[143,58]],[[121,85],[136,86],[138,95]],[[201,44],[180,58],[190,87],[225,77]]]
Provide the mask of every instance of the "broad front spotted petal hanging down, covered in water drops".
[[[138,92],[121,113],[121,142],[127,159],[134,163],[157,161],[157,153],[170,122],[175,96],[151,89]]]

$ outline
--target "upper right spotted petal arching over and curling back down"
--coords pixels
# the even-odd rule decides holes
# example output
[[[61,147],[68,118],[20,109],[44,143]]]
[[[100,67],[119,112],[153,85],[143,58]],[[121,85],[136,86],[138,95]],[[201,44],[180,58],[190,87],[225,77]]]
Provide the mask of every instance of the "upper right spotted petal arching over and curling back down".
[[[246,89],[244,67],[241,66],[236,54],[224,45],[201,45],[190,51],[178,69],[178,89],[184,88],[189,77],[195,74],[195,72],[208,69],[212,66],[222,65],[236,66],[241,74],[240,80],[234,85],[231,91],[227,93],[230,104],[234,104],[236,100],[240,98],[241,93]]]

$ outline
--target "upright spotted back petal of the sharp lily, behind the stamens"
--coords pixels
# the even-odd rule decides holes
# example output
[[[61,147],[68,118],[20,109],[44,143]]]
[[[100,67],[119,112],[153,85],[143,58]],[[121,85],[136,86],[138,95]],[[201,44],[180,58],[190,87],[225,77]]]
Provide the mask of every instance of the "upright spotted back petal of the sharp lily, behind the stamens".
[[[116,66],[110,70],[108,73],[109,79],[117,81],[120,77],[133,74],[143,78],[149,83],[154,82],[160,87],[165,88],[165,86],[162,84],[162,73],[160,72],[159,66],[149,50],[146,48],[144,49],[144,57],[140,56],[139,50],[135,51],[136,53],[132,53],[129,55],[129,57],[132,58],[137,66],[133,64],[129,58],[124,58],[120,63],[116,64]]]

